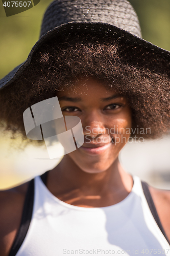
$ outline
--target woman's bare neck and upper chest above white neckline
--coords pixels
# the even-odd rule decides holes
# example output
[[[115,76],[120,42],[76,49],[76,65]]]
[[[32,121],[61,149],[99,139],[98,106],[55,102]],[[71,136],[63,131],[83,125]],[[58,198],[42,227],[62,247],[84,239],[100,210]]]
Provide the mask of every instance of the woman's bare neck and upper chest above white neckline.
[[[104,207],[125,199],[133,186],[132,177],[118,158],[100,173],[86,173],[69,156],[49,172],[47,188],[60,200],[82,207]]]

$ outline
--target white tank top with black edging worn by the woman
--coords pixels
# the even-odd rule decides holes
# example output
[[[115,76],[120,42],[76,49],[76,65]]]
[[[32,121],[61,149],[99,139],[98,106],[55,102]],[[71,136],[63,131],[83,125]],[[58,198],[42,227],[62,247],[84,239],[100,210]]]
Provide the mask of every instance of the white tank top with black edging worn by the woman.
[[[15,255],[170,255],[141,181],[136,176],[133,180],[132,191],[123,201],[86,208],[59,200],[36,177],[30,226]]]

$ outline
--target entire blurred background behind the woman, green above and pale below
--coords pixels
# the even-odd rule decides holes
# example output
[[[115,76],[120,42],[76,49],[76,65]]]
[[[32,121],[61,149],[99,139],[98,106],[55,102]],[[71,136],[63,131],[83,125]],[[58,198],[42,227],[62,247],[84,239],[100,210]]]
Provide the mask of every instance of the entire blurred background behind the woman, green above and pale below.
[[[26,60],[39,38],[42,15],[51,0],[41,0],[34,8],[6,17],[0,1],[0,79]],[[170,51],[170,1],[131,0],[136,10],[143,39]],[[19,92],[16,92],[19,93]],[[58,160],[47,158],[45,148],[29,146],[17,150],[20,139],[0,132],[0,189],[15,186],[52,169]],[[170,136],[163,139],[129,143],[119,156],[120,162],[132,175],[149,184],[170,189]]]

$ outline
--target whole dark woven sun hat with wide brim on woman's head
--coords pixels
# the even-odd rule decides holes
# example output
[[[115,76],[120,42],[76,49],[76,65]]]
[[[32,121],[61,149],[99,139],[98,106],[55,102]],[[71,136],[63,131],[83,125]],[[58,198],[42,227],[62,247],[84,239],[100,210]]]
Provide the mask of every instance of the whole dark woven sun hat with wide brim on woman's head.
[[[47,44],[69,40],[72,36],[91,35],[113,38],[127,48],[140,48],[152,52],[154,66],[169,67],[170,52],[141,39],[138,17],[127,0],[55,0],[47,8],[41,26],[40,39],[32,48],[27,60],[0,80],[0,89],[18,79],[30,65],[32,57]],[[135,53],[132,53],[133,57]],[[138,61],[143,55],[138,53]],[[160,61],[163,60],[160,64]],[[153,65],[153,62],[152,62]],[[154,67],[153,67],[154,69]],[[164,70],[161,69],[161,70]]]

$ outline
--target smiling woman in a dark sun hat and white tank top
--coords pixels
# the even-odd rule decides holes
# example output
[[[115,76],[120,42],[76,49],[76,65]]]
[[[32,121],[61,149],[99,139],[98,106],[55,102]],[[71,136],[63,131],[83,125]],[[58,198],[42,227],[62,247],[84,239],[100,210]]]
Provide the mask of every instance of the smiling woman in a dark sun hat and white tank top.
[[[26,62],[1,80],[6,129],[26,139],[23,112],[57,96],[84,135],[54,169],[1,191],[2,256],[170,254],[169,191],[118,161],[129,139],[169,129],[170,55],[139,37],[126,0],[54,1]]]

